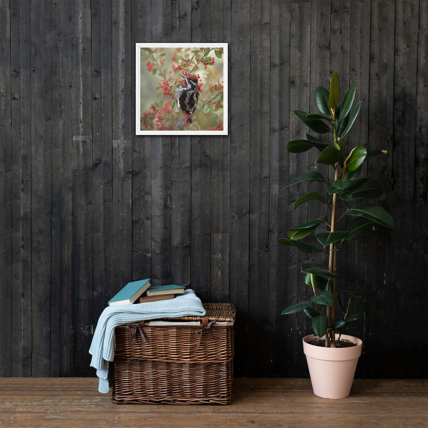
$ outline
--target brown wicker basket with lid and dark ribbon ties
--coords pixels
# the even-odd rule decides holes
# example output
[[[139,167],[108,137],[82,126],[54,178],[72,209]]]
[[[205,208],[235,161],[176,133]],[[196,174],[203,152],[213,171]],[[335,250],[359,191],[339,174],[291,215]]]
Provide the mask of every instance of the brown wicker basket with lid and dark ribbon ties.
[[[114,403],[230,403],[233,325],[217,326],[215,321],[234,321],[235,308],[225,303],[204,307],[204,318],[174,318],[202,321],[203,327],[149,326],[140,321],[116,328]]]

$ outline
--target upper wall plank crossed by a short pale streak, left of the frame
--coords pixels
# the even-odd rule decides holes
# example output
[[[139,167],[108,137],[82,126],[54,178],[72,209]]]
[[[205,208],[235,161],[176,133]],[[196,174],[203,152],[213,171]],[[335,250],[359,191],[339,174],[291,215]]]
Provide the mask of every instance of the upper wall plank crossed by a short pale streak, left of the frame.
[[[73,169],[92,169],[91,9],[72,1]]]

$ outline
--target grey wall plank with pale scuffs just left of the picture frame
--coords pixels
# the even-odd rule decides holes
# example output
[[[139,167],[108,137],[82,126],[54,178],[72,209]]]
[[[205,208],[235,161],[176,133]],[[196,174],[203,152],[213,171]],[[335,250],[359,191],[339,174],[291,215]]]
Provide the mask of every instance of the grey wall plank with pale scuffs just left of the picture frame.
[[[118,0],[111,6],[113,177],[131,177],[131,2]]]

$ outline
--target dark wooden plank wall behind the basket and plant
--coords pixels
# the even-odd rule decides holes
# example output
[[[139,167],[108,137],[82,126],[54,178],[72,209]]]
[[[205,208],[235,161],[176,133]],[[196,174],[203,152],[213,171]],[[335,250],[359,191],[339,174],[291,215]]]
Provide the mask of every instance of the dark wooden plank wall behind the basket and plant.
[[[390,151],[364,173],[395,218],[339,255],[372,307],[351,329],[357,376],[426,377],[427,16],[422,0],[1,0],[0,375],[94,375],[107,300],[151,277],[235,305],[235,375],[306,376],[309,323],[280,315],[307,297],[304,255],[276,240],[324,208],[292,211],[307,184],[277,190],[314,156],[285,150],[307,132],[290,110],[315,111],[338,71],[364,101],[350,146]],[[189,41],[229,43],[229,135],[134,135],[135,43]]]

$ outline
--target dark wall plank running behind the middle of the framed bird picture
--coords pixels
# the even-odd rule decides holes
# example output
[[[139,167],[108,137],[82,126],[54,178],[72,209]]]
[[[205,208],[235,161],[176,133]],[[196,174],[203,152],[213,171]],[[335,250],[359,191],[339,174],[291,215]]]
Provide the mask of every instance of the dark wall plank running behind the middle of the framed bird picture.
[[[192,37],[191,0],[172,3],[172,42]],[[200,101],[199,101],[200,102]],[[191,137],[171,137],[171,282],[190,284]]]

